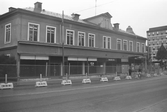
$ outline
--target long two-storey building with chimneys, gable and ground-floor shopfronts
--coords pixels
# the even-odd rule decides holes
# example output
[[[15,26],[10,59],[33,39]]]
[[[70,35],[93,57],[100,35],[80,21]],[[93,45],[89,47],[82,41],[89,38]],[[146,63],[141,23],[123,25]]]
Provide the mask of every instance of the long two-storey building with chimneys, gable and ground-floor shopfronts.
[[[46,11],[40,2],[1,15],[0,54],[15,57],[16,77],[121,73],[133,63],[129,57],[146,54],[146,38],[130,26],[123,31],[119,23],[112,25],[108,12],[79,16]]]

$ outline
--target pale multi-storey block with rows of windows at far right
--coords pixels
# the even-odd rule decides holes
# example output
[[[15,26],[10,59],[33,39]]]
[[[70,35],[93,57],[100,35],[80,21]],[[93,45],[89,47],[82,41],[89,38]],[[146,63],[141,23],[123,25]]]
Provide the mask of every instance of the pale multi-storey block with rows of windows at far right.
[[[155,56],[158,48],[163,43],[167,47],[167,26],[149,28],[147,31],[148,47],[151,49],[151,60],[157,61]]]

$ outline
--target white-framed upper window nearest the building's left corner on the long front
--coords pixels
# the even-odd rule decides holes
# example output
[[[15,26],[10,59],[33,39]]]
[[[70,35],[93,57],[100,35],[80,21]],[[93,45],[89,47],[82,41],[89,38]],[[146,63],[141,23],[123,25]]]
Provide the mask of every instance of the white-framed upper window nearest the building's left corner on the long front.
[[[28,23],[28,40],[39,41],[39,24]]]

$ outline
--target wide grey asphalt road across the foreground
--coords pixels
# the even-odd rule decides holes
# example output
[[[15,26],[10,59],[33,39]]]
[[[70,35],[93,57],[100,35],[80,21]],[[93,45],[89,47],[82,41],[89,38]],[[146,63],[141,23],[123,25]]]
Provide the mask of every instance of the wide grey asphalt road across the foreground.
[[[139,112],[166,99],[167,76],[160,76],[120,83],[1,90],[0,112]]]

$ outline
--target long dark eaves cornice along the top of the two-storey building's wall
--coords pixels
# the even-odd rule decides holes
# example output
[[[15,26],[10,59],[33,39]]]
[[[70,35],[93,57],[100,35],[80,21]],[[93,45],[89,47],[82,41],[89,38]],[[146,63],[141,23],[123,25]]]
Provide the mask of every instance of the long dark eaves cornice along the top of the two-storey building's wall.
[[[28,10],[25,10],[25,9],[21,9],[21,8],[17,8],[13,11],[10,11],[10,12],[7,12],[3,15],[0,15],[0,20],[1,19],[4,19],[10,15],[13,15],[15,13],[22,13],[22,14],[28,14],[28,15],[33,15],[33,16],[37,16],[37,17],[43,17],[43,18],[47,18],[47,19],[51,19],[51,20],[57,20],[59,22],[62,21],[61,18],[59,17],[54,17],[54,16],[50,16],[50,15],[45,15],[45,14],[41,14],[41,13],[37,13],[37,12],[32,12],[32,11],[28,11]],[[115,33],[115,34],[118,34],[118,35],[126,35],[126,36],[130,36],[130,37],[139,37],[141,39],[145,39],[144,37],[142,36],[139,36],[139,35],[134,35],[134,34],[128,34],[126,32],[121,32],[119,30],[110,30],[110,29],[105,29],[105,28],[101,28],[100,26],[96,25],[96,24],[90,24],[89,22],[87,22],[88,24],[85,24],[85,23],[81,23],[81,22],[77,22],[77,21],[71,21],[71,20],[68,20],[68,19],[64,19],[64,22],[67,22],[67,23],[72,23],[72,24],[75,24],[75,25],[81,25],[81,26],[84,26],[84,27],[89,27],[89,28],[93,28],[93,29],[96,29],[96,30],[102,30],[102,31],[107,31],[109,33]]]

